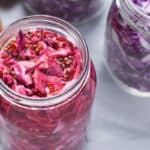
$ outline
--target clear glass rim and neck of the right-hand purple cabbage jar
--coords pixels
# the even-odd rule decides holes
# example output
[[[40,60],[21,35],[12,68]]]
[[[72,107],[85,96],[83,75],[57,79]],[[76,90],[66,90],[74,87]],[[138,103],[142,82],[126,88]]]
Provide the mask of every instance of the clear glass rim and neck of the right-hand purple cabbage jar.
[[[123,9],[121,12],[129,22],[141,32],[150,35],[150,15],[139,9],[132,0],[116,0],[117,4]]]

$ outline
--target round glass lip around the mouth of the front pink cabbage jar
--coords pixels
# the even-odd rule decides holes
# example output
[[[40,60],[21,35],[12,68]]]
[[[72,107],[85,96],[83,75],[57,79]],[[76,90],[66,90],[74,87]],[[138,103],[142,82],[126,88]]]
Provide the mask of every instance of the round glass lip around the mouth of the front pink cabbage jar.
[[[62,19],[59,19],[59,18],[53,17],[53,16],[48,16],[48,15],[32,15],[32,16],[23,17],[23,18],[15,21],[14,23],[10,24],[8,27],[6,27],[1,32],[0,38],[3,38],[3,36],[7,33],[7,31],[12,30],[13,29],[12,27],[15,27],[16,25],[19,25],[19,24],[21,25],[21,24],[27,23],[27,22],[28,22],[28,24],[30,24],[33,20],[38,21],[38,22],[47,21],[49,23],[61,25],[65,29],[65,32],[67,32],[67,30],[69,30],[70,34],[74,34],[79,39],[79,41],[82,43],[82,46],[83,46],[82,50],[85,53],[85,56],[84,56],[85,60],[83,61],[83,69],[81,71],[81,74],[80,74],[79,78],[68,89],[66,89],[54,96],[41,97],[41,98],[28,97],[28,96],[21,95],[21,94],[15,92],[14,90],[12,90],[11,88],[9,88],[0,79],[0,96],[6,97],[5,94],[7,94],[12,98],[11,101],[14,101],[16,104],[22,104],[24,106],[36,106],[36,107],[52,106],[52,105],[56,105],[58,103],[65,101],[67,98],[71,97],[73,95],[73,93],[78,92],[79,88],[83,86],[83,84],[85,83],[85,77],[88,76],[87,70],[90,67],[89,51],[88,51],[88,47],[87,47],[84,37],[80,34],[80,32],[74,26],[72,26],[71,24],[69,24],[68,22],[66,22]],[[38,25],[38,27],[39,26],[40,26],[40,24]],[[41,26],[43,26],[43,25],[41,25]]]

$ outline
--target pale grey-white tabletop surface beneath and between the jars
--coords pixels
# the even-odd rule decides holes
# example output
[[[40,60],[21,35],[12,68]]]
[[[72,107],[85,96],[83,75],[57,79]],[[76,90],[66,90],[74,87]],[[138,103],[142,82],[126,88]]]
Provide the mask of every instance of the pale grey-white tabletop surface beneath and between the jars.
[[[106,0],[109,6],[111,0]],[[26,15],[21,4],[9,9],[0,6],[4,25]],[[106,14],[78,29],[89,46],[98,77],[88,143],[85,150],[149,150],[150,99],[131,96],[120,89],[103,66]]]

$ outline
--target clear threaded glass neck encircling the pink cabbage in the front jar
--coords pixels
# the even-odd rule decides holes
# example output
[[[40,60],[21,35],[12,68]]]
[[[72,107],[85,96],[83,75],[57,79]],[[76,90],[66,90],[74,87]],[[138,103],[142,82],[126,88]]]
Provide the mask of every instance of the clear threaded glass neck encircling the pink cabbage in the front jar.
[[[35,15],[14,22],[0,34],[0,48],[2,49],[6,42],[18,33],[20,29],[22,31],[28,31],[29,29],[40,27],[59,33],[78,46],[83,57],[83,70],[77,81],[66,91],[57,94],[56,96],[46,98],[32,98],[20,95],[11,90],[2,80],[0,80],[0,96],[14,104],[22,105],[24,107],[47,107],[62,103],[68,98],[73,97],[76,93],[79,93],[89,77],[90,59],[85,40],[72,25],[56,17]]]

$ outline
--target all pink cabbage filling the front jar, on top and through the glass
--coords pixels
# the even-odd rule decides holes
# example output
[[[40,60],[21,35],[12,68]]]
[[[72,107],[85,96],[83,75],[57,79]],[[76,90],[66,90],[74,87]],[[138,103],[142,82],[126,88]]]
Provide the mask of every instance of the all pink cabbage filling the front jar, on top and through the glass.
[[[0,79],[18,95],[53,98],[63,94],[83,70],[81,50],[46,29],[19,31],[0,51]],[[25,107],[0,96],[0,135],[4,150],[80,150],[95,95],[91,64],[88,80],[69,99],[47,107]]]

